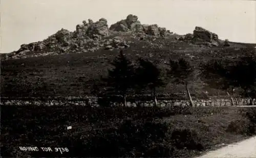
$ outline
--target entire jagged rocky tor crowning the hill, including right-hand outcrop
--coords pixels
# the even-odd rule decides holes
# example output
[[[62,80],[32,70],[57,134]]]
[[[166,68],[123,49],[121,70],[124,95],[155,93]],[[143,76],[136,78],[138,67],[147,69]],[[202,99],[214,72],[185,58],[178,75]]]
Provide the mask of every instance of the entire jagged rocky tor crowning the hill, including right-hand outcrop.
[[[45,40],[22,44],[18,51],[8,54],[8,58],[26,58],[72,52],[87,53],[100,49],[124,49],[129,48],[134,40],[147,42],[154,41],[158,37],[170,37],[169,35],[174,34],[156,24],[142,25],[138,17],[132,14],[111,25],[110,28],[105,18],[100,18],[96,22],[88,19],[88,21],[83,20],[82,24],[76,25],[73,32],[61,29]],[[179,35],[176,38],[180,41],[207,46],[218,46],[219,44],[217,34],[201,27],[196,27],[193,34]],[[155,45],[158,45],[157,48],[162,46],[161,42],[158,44],[156,44],[156,41],[151,43],[151,46],[155,47]],[[224,45],[228,46],[228,41]]]

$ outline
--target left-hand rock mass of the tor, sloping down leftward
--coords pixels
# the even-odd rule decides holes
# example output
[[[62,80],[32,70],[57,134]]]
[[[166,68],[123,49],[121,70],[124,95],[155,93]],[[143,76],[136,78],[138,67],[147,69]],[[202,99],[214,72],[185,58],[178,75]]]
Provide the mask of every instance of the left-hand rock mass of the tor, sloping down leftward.
[[[92,48],[88,48],[86,45],[88,45],[88,42],[92,42],[93,40],[98,41],[101,40],[102,37],[108,37],[110,35],[108,21],[104,18],[100,18],[99,21],[96,22],[93,22],[92,19],[88,19],[88,23],[85,20],[83,20],[82,23],[82,25],[76,26],[74,32],[61,29],[43,41],[22,44],[20,49],[14,52],[14,55],[16,57],[24,57],[27,52],[32,51],[37,51],[37,54],[40,54],[38,51],[47,51],[48,53],[44,54],[49,55],[65,52],[88,52],[101,49],[101,46],[104,44],[100,44],[99,42],[97,46],[92,45]]]

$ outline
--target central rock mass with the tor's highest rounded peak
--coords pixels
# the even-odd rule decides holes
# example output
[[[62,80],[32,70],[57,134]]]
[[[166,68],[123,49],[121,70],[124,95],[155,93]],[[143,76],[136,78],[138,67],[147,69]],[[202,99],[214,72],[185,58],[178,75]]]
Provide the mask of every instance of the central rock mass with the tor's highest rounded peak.
[[[160,28],[156,24],[142,25],[138,20],[138,17],[132,14],[128,15],[126,19],[120,20],[116,22],[116,24],[111,25],[110,30],[121,32],[140,32],[152,36],[166,36],[167,34],[170,34],[169,30]]]

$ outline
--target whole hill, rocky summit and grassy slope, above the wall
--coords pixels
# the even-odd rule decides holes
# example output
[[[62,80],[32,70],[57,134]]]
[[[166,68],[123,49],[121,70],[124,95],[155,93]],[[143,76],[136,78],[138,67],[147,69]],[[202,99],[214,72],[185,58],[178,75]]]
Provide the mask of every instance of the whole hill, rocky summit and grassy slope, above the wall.
[[[2,96],[90,95],[95,79],[106,75],[122,49],[135,62],[139,57],[157,61],[186,58],[193,64],[212,58],[236,60],[255,52],[256,44],[218,39],[201,27],[193,34],[177,35],[157,25],[142,25],[135,15],[108,26],[106,19],[83,21],[76,31],[61,29],[43,41],[23,44],[18,51],[1,55]],[[191,93],[208,91],[198,79],[191,81]],[[183,92],[182,85],[169,84],[161,93]]]

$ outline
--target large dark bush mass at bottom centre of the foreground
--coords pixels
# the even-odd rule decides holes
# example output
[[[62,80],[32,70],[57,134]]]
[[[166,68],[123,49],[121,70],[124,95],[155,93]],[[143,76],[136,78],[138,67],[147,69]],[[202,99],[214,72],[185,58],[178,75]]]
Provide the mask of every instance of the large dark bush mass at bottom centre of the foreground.
[[[86,155],[83,156],[171,156],[173,149],[163,144],[167,132],[168,125],[165,123],[126,120],[120,127],[92,133],[92,136],[88,137],[87,143],[84,144],[83,152]]]

